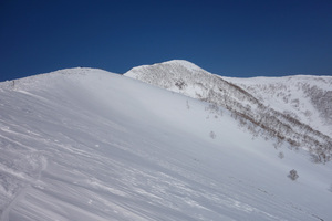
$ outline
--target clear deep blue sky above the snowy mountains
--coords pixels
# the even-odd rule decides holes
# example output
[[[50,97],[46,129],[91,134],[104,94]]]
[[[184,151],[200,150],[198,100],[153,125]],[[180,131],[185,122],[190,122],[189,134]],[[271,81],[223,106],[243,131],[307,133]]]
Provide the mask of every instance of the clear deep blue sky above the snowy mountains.
[[[0,0],[0,81],[190,61],[224,76],[332,75],[330,0]]]

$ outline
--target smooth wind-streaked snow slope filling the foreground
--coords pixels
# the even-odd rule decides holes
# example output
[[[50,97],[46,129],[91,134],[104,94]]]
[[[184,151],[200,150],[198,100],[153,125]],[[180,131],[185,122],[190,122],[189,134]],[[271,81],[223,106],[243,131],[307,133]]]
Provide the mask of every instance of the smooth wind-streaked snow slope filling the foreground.
[[[1,221],[332,217],[331,164],[252,140],[224,107],[101,70],[0,83],[0,152]]]

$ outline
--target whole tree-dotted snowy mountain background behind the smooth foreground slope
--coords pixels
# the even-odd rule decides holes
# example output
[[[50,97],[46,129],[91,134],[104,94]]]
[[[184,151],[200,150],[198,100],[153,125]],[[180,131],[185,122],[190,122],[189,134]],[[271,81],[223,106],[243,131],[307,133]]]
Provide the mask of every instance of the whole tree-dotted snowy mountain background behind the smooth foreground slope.
[[[224,106],[255,136],[307,149],[313,161],[331,159],[330,76],[221,77],[178,60],[134,67],[125,75]]]

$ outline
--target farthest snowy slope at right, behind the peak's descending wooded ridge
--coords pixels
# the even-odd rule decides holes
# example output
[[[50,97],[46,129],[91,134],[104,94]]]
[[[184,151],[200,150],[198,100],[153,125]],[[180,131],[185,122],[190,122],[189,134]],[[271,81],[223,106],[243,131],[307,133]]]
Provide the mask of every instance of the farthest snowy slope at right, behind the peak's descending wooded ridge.
[[[332,76],[222,77],[266,105],[332,136]]]

